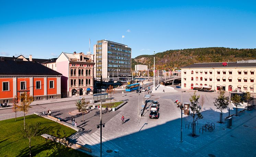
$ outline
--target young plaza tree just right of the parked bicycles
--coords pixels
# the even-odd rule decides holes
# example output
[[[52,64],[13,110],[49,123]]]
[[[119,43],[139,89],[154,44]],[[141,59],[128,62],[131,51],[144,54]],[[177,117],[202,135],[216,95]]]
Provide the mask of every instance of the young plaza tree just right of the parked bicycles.
[[[220,123],[222,123],[222,117],[223,117],[223,113],[222,110],[226,109],[229,105],[229,102],[225,99],[225,90],[219,90],[218,92],[218,98],[215,98],[215,101],[213,102],[214,106],[217,107],[217,109],[220,110]]]

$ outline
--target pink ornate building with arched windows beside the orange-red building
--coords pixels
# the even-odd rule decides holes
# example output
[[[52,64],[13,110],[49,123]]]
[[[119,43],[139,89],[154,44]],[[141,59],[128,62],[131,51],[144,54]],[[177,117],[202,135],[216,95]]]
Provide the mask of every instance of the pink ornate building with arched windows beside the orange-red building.
[[[56,60],[56,67],[57,72],[62,73],[62,97],[93,94],[94,64],[93,55],[85,55],[83,52],[61,53]]]

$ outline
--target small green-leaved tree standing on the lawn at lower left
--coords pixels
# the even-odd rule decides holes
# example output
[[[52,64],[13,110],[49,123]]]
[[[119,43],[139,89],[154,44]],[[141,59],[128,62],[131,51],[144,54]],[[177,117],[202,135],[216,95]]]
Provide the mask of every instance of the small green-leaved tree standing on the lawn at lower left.
[[[25,127],[23,129],[23,126],[21,127],[21,133],[23,137],[28,138],[29,140],[29,155],[31,157],[31,139],[32,137],[38,135],[38,130],[40,129],[41,123],[37,122],[34,124],[25,124]]]

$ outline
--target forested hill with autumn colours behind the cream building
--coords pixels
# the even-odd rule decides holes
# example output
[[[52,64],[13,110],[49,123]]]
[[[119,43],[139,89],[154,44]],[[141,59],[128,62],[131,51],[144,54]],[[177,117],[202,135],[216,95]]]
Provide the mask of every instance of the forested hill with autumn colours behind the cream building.
[[[256,49],[237,49],[224,47],[208,47],[194,49],[168,50],[155,54],[155,66],[157,69],[168,70],[181,68],[193,63],[203,62],[228,62],[237,60],[256,59]],[[136,64],[154,66],[152,55],[140,55],[132,58],[132,69]]]

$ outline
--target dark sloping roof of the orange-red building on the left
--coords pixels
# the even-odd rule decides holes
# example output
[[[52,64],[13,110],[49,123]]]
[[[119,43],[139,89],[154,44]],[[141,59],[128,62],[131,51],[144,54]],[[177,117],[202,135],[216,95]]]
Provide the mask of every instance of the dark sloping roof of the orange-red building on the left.
[[[0,75],[62,75],[37,62],[30,61],[0,61]]]

